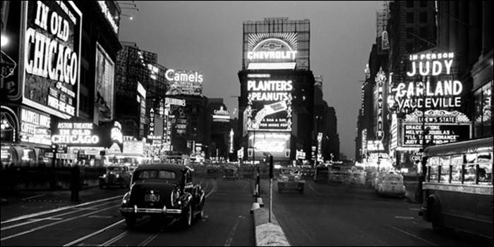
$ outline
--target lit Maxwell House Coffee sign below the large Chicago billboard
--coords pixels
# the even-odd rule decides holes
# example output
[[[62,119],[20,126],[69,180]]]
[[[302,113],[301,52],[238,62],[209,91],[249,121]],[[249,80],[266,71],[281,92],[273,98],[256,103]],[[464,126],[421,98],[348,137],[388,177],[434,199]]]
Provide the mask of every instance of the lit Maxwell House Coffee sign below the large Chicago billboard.
[[[20,108],[19,139],[32,144],[52,145],[50,125],[52,119],[46,113]]]

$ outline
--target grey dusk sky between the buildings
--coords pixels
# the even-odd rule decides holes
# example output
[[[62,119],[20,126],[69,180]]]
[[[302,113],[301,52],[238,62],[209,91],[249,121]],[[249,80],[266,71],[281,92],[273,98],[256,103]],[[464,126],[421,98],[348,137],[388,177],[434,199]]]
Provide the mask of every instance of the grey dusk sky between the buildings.
[[[121,1],[131,2],[131,1]],[[202,70],[203,94],[223,98],[230,113],[240,95],[242,23],[266,17],[311,20],[311,70],[323,75],[335,107],[340,152],[354,158],[363,69],[375,42],[382,1],[135,1],[123,9],[120,40],[158,54],[167,68]],[[121,5],[127,7],[129,5]],[[236,115],[236,114],[235,114]]]

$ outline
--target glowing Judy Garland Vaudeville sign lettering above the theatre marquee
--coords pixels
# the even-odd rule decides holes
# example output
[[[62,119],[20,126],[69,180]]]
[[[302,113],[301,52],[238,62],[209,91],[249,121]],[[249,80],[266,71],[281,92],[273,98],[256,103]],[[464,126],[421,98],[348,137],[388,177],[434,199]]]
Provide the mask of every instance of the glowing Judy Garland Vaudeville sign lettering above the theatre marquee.
[[[462,106],[463,84],[452,80],[454,53],[411,55],[412,82],[402,82],[392,89],[394,104],[400,111],[414,109],[451,109]]]

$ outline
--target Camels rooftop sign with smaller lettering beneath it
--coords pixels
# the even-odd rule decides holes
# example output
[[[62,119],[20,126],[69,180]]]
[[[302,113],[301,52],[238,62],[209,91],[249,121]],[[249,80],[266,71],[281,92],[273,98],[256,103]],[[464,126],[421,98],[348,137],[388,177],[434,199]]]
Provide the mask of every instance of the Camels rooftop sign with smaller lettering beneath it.
[[[199,70],[172,70],[164,73],[169,81],[167,95],[203,95],[203,73]]]

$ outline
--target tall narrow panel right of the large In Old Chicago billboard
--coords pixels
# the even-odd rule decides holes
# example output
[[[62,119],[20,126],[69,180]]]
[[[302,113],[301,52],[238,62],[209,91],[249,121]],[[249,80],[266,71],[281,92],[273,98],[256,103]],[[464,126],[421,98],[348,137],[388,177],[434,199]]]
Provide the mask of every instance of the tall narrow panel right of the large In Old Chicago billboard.
[[[94,122],[108,122],[114,115],[114,69],[108,53],[96,42]]]

